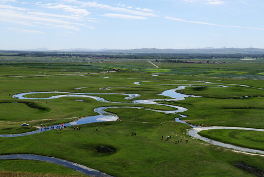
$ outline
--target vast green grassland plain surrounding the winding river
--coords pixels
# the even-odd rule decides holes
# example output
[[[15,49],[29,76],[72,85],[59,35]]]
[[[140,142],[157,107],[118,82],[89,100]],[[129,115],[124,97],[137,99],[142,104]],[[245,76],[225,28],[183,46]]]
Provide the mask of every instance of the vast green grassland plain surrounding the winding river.
[[[80,63],[77,63],[80,64]],[[82,64],[82,63],[81,63]],[[156,63],[158,64],[158,63]],[[166,63],[167,64],[167,63]],[[173,65],[175,64],[175,65]],[[177,67],[173,63],[171,67]],[[189,64],[189,63],[183,63]],[[219,125],[264,128],[264,93],[263,90],[247,88],[227,84],[242,84],[251,87],[264,88],[262,80],[231,79],[202,77],[200,75],[176,75],[161,72],[153,77],[153,65],[149,62],[117,62],[117,63],[92,63],[82,68],[80,65],[67,65],[78,72],[110,71],[113,68],[122,68],[122,72],[88,74],[86,77],[79,75],[43,76],[43,77],[18,77],[0,78],[0,134],[22,133],[32,131],[40,123],[46,125],[69,122],[76,118],[97,115],[93,110],[101,106],[135,106],[158,110],[174,110],[171,107],[149,104],[129,104],[124,100],[125,95],[95,95],[114,102],[127,102],[127,104],[104,103],[85,97],[61,97],[49,100],[22,100],[12,98],[12,95],[30,91],[66,91],[78,93],[138,93],[141,96],[135,99],[170,99],[170,97],[157,95],[167,89],[175,89],[178,86],[198,85],[199,87],[186,87],[179,90],[184,94],[194,94],[202,97],[188,97],[181,101],[159,101],[164,104],[182,106],[188,109],[183,112],[188,116],[186,121],[197,125]],[[185,65],[182,65],[182,67]],[[193,67],[193,65],[190,67]],[[201,65],[202,69],[208,65]],[[251,65],[249,65],[251,67]],[[0,75],[35,75],[44,70],[51,73],[63,72],[64,66],[41,70],[41,64],[35,66],[0,66]],[[78,70],[78,67],[81,67]],[[170,69],[169,64],[161,66],[160,71]],[[224,66],[223,66],[224,67]],[[242,65],[241,65],[242,67]],[[252,65],[254,67],[254,65]],[[144,68],[144,69],[143,69]],[[148,69],[146,69],[148,68]],[[174,68],[177,69],[177,68]],[[196,68],[197,69],[197,68]],[[222,68],[223,69],[223,68]],[[68,70],[68,69],[66,69]],[[155,70],[155,69],[154,69]],[[217,70],[217,69],[216,69]],[[253,70],[253,69],[252,69]],[[45,71],[45,72],[46,72]],[[71,71],[71,72],[72,72]],[[147,72],[146,72],[147,71]],[[155,71],[156,72],[156,71]],[[230,72],[230,71],[229,71]],[[238,75],[245,74],[241,70]],[[260,71],[256,71],[260,73]],[[48,73],[48,72],[47,72]],[[223,74],[222,72],[211,72]],[[229,73],[230,74],[230,73]],[[234,73],[231,73],[234,74]],[[248,73],[247,73],[248,74]],[[103,78],[110,77],[110,78]],[[229,88],[205,88],[215,87],[218,84],[205,84],[189,81],[207,81],[230,86]],[[150,81],[135,85],[134,82]],[[176,84],[156,86],[157,84]],[[75,88],[85,89],[76,90]],[[105,90],[100,88],[112,88]],[[5,94],[7,94],[5,96]],[[10,94],[10,96],[9,96]],[[61,94],[61,93],[59,93]],[[57,93],[36,93],[25,97],[45,98]],[[244,97],[248,96],[248,97]],[[242,98],[240,98],[242,97]],[[231,99],[233,98],[233,99]],[[84,100],[78,102],[76,100]],[[47,101],[47,102],[46,102]],[[106,111],[115,113],[120,118],[118,121],[96,122],[80,125],[81,130],[73,131],[70,127],[63,130],[52,130],[24,137],[0,138],[0,154],[38,154],[57,157],[73,161],[90,168],[94,168],[116,177],[253,177],[243,170],[235,167],[236,162],[264,169],[262,156],[236,153],[231,149],[219,148],[199,140],[193,140],[184,133],[189,125],[175,122],[178,115],[163,114],[134,108],[111,108]],[[163,125],[161,126],[161,122]],[[32,127],[21,127],[21,123],[32,124]],[[95,129],[99,127],[99,131]],[[237,144],[248,148],[263,148],[263,142],[255,144],[259,132],[212,130],[209,134],[219,141],[226,143],[241,143],[244,138],[247,141]],[[136,132],[136,136],[131,136]],[[169,141],[161,140],[161,136],[172,136]],[[232,135],[232,136],[231,136]],[[249,138],[253,135],[256,138]],[[228,138],[227,138],[228,137]],[[176,140],[183,142],[175,144]],[[188,144],[185,138],[189,139]],[[96,150],[96,146],[114,148],[114,152],[102,153]],[[36,168],[30,166],[36,164]],[[41,166],[41,168],[38,166]],[[71,170],[48,163],[23,160],[2,160],[0,171],[34,172],[34,173],[60,173],[65,175],[77,175]]]

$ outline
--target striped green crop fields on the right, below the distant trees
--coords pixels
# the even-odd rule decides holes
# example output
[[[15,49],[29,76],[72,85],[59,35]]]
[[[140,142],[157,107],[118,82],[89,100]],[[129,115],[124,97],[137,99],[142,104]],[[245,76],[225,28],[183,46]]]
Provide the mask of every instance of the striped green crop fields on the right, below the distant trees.
[[[144,69],[149,73],[167,73],[206,77],[264,79],[263,61],[232,61],[218,63],[164,63],[154,62],[160,68]]]

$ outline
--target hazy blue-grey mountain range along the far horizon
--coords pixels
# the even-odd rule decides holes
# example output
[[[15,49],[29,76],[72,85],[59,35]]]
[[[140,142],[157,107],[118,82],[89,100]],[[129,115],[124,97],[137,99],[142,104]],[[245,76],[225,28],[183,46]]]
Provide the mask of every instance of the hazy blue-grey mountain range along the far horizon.
[[[4,50],[1,50],[4,52]],[[6,50],[5,50],[6,51]],[[10,51],[10,50],[9,50]],[[75,48],[75,49],[61,49],[61,50],[49,50],[47,48],[30,49],[23,52],[88,52],[88,53],[104,53],[104,54],[136,54],[136,53],[147,53],[147,54],[264,54],[264,49],[259,48],[200,48],[200,49],[156,49],[156,48],[143,48],[143,49],[85,49],[85,48]],[[22,51],[19,51],[22,52]]]

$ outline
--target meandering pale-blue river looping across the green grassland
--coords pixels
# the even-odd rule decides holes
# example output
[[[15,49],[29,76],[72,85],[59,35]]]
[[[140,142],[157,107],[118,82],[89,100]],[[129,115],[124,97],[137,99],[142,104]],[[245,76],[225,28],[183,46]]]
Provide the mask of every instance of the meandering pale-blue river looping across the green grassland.
[[[180,80],[175,80],[175,81],[180,81]],[[182,80],[185,81],[185,80]],[[143,85],[142,83],[146,83],[146,82],[151,82],[151,81],[141,81],[141,82],[135,82],[135,85]],[[156,82],[156,81],[154,81]],[[126,93],[74,93],[74,92],[62,92],[62,91],[46,91],[46,92],[27,92],[27,93],[20,93],[20,94],[16,94],[13,95],[14,98],[18,98],[18,99],[28,99],[28,100],[45,100],[45,99],[56,99],[56,98],[60,98],[60,97],[83,97],[83,98],[92,98],[95,99],[97,101],[100,102],[105,102],[105,103],[116,103],[118,105],[122,105],[122,106],[104,106],[104,107],[98,107],[94,109],[94,112],[98,113],[99,115],[97,116],[89,116],[86,118],[80,118],[78,120],[69,122],[69,123],[65,123],[66,126],[75,126],[75,125],[80,125],[80,124],[86,124],[86,123],[92,123],[92,122],[98,122],[98,121],[114,121],[117,120],[117,115],[112,114],[112,113],[108,113],[105,111],[105,109],[108,108],[134,108],[134,109],[146,109],[146,110],[150,110],[150,111],[156,111],[156,112],[162,112],[165,114],[177,114],[180,117],[175,118],[176,122],[180,122],[180,123],[185,123],[190,125],[192,128],[189,129],[189,131],[187,132],[187,134],[189,136],[191,136],[192,138],[195,139],[200,139],[203,140],[209,144],[212,145],[216,145],[216,146],[220,146],[220,147],[224,147],[224,148],[231,148],[231,149],[235,149],[235,150],[239,150],[239,151],[243,151],[243,152],[251,152],[251,153],[260,153],[260,154],[264,154],[264,151],[262,150],[256,150],[256,149],[250,149],[250,148],[241,148],[241,147],[237,147],[234,145],[230,145],[230,144],[225,144],[222,142],[217,142],[205,137],[200,136],[198,133],[200,131],[203,130],[211,130],[211,129],[237,129],[237,130],[254,130],[254,131],[263,131],[264,129],[255,129],[255,128],[243,128],[243,127],[224,127],[224,126],[210,126],[210,127],[198,127],[195,125],[191,125],[187,122],[184,122],[182,120],[180,120],[180,118],[186,117],[184,115],[178,114],[178,113],[182,113],[184,111],[187,111],[186,108],[184,107],[180,107],[180,106],[175,106],[175,105],[169,105],[169,104],[161,104],[161,103],[156,103],[156,101],[179,101],[179,100],[183,100],[186,97],[199,97],[199,96],[195,96],[195,95],[186,95],[186,94],[182,94],[179,92],[176,92],[177,90],[182,90],[185,89],[186,87],[214,87],[214,88],[226,88],[229,86],[226,85],[230,85],[230,86],[242,86],[242,87],[249,87],[249,86],[245,86],[245,85],[235,85],[235,84],[218,84],[218,83],[211,83],[211,82],[203,82],[203,81],[187,81],[187,82],[200,82],[203,84],[203,86],[199,86],[199,84],[195,83],[195,84],[191,84],[191,85],[186,85],[186,86],[182,86],[183,84],[159,84],[159,85],[155,85],[155,86],[165,86],[165,85],[181,85],[178,86],[176,89],[169,89],[169,90],[165,90],[163,91],[161,94],[159,95],[163,95],[163,96],[168,96],[171,97],[171,99],[136,99],[137,97],[140,97],[140,94],[126,94]],[[205,84],[210,84],[210,86],[204,86]],[[212,86],[213,85],[213,86]],[[251,87],[254,88],[254,87]],[[84,89],[84,88],[76,88],[76,89]],[[101,88],[101,89],[114,89],[114,88]],[[255,88],[255,89],[262,89],[262,88]],[[60,95],[55,95],[55,96],[51,96],[51,97],[47,97],[47,98],[29,98],[29,97],[24,97],[27,94],[37,94],[37,93],[61,93]],[[126,95],[127,97],[125,97],[124,99],[126,100],[130,100],[131,102],[113,102],[113,101],[108,101],[104,98],[101,98],[98,95]],[[81,99],[76,100],[76,101],[83,101]],[[126,106],[130,104],[129,106]],[[172,111],[164,111],[164,110],[155,110],[155,109],[149,109],[146,107],[134,107],[131,106],[131,104],[150,104],[150,105],[161,105],[161,106],[167,106],[167,107],[171,107],[174,110]],[[53,126],[60,126],[60,125],[53,125]],[[0,137],[19,137],[19,136],[26,136],[26,135],[31,135],[31,134],[35,134],[35,133],[40,133],[40,132],[45,132],[45,131],[49,131],[51,130],[51,127],[48,127],[47,129],[44,128],[40,128],[36,131],[32,131],[32,132],[27,132],[27,133],[21,133],[21,134],[7,134],[7,135],[0,135]],[[46,157],[46,156],[39,156],[39,155],[29,155],[29,154],[13,154],[13,155],[0,155],[0,159],[26,159],[26,160],[40,160],[40,161],[45,161],[45,162],[50,162],[50,163],[55,163],[55,164],[59,164],[68,168],[71,168],[73,170],[76,170],[78,172],[84,173],[86,175],[89,176],[102,176],[102,177],[111,177],[107,174],[104,174],[102,172],[99,172],[97,170],[94,169],[90,169],[88,167],[73,163],[73,162],[69,162],[66,160],[62,160],[62,159],[57,159],[57,158],[53,158],[53,157]]]

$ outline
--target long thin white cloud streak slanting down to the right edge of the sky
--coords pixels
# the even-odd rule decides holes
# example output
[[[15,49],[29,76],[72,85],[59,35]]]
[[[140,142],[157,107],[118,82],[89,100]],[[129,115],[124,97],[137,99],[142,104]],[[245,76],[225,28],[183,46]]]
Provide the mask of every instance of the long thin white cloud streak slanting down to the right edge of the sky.
[[[255,27],[240,27],[240,26],[234,26],[234,25],[219,25],[219,24],[212,24],[212,23],[206,23],[206,22],[199,22],[199,21],[189,21],[184,20],[180,18],[174,18],[174,17],[164,17],[165,19],[174,20],[178,22],[186,22],[186,23],[193,23],[193,24],[201,24],[201,25],[209,25],[209,26],[216,26],[216,27],[230,27],[230,28],[241,28],[241,29],[260,29],[264,30],[264,28],[255,28]]]

